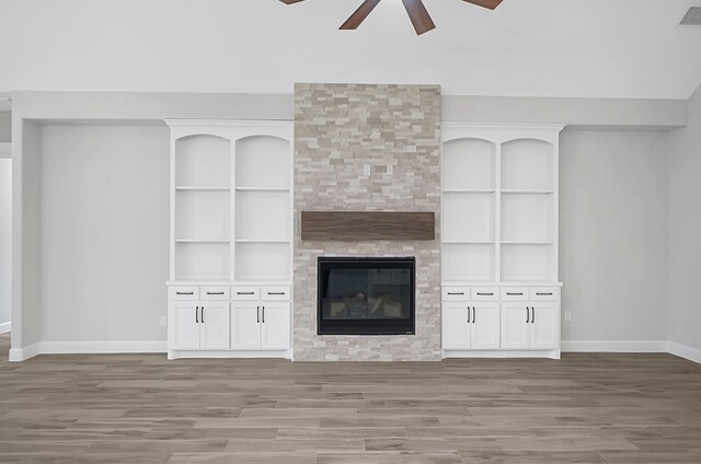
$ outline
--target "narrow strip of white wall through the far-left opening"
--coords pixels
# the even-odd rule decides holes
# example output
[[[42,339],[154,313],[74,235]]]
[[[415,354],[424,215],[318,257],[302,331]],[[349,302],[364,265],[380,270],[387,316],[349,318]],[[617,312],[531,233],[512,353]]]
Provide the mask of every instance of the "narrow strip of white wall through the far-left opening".
[[[11,318],[12,160],[0,158],[0,332]]]

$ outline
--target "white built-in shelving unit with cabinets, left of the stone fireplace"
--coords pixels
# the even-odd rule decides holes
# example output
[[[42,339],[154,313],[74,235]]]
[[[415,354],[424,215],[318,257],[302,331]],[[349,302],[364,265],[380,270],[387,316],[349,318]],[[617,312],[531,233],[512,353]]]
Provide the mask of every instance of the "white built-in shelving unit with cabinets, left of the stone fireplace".
[[[166,123],[169,357],[289,357],[292,124]]]

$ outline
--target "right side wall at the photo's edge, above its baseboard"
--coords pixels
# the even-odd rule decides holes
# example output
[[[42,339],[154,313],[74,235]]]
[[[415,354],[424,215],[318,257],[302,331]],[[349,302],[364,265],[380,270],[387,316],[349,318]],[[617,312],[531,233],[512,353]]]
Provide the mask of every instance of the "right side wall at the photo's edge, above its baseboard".
[[[688,127],[671,137],[669,227],[669,340],[701,362],[701,88]]]

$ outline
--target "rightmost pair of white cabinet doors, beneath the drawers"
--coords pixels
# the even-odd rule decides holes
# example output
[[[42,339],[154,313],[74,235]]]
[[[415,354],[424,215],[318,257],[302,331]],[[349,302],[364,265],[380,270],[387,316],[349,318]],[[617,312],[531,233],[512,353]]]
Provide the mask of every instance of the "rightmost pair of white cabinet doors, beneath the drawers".
[[[560,306],[556,303],[504,303],[502,348],[553,350],[560,346]]]

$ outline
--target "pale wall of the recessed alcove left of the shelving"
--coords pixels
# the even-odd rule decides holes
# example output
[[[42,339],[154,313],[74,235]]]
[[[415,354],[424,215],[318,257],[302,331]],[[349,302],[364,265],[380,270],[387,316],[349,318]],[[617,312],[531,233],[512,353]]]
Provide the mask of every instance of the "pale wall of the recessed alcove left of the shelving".
[[[42,128],[43,343],[165,340],[170,138]]]

